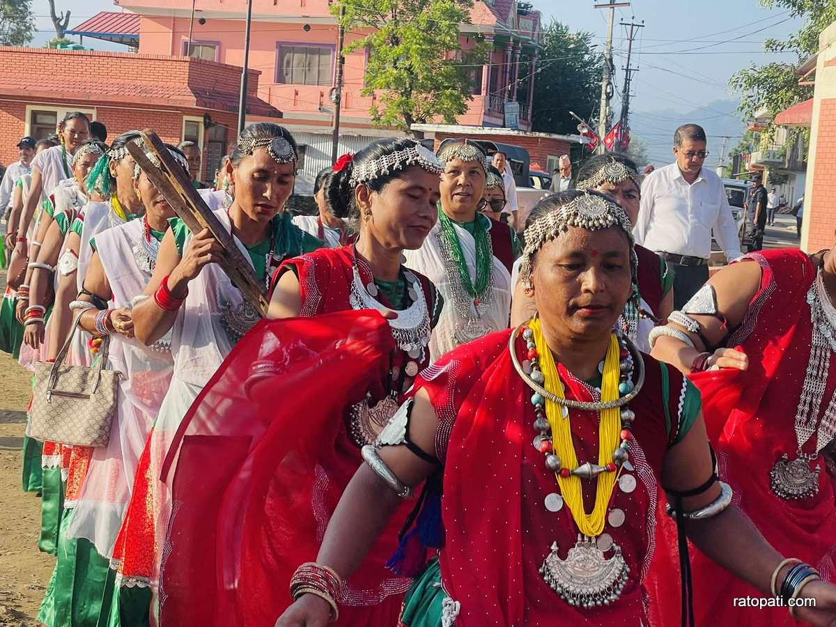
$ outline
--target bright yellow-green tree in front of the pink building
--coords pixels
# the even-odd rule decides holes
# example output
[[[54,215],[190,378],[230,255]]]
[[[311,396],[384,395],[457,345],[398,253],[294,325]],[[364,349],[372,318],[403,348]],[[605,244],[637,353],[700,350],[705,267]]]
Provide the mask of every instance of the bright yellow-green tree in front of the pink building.
[[[373,124],[410,131],[413,124],[441,118],[455,124],[472,99],[474,75],[487,45],[477,38],[462,51],[460,24],[470,23],[471,0],[344,0],[331,5],[346,33],[363,35],[344,54],[367,48],[364,96],[378,95],[370,109]],[[416,133],[415,135],[421,135]]]

